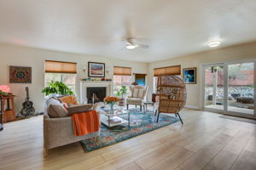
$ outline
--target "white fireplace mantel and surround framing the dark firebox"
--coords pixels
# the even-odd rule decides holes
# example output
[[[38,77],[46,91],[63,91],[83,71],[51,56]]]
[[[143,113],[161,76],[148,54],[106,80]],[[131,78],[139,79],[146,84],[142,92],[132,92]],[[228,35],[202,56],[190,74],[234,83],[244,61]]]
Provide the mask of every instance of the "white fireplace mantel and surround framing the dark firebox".
[[[87,88],[106,88],[106,95],[113,94],[112,82],[108,81],[80,81],[80,101],[84,103],[87,96]]]

